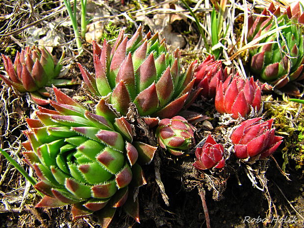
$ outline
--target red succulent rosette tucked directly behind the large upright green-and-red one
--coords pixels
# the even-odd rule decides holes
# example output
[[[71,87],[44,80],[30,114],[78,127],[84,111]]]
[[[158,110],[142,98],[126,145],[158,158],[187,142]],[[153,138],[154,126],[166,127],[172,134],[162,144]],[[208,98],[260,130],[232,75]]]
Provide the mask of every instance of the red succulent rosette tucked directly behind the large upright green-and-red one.
[[[200,93],[203,97],[215,98],[216,87],[220,81],[225,81],[227,71],[222,67],[222,61],[215,61],[214,55],[208,57],[195,70],[195,85],[197,88],[203,88]]]

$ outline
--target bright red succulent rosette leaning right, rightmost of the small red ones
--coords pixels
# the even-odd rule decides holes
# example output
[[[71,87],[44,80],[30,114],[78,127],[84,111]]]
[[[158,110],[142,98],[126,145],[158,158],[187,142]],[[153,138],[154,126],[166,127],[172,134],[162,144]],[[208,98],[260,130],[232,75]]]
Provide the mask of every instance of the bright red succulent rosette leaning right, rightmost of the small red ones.
[[[241,159],[257,156],[265,158],[273,154],[283,139],[275,135],[273,121],[262,121],[261,117],[243,121],[230,136],[234,154]]]

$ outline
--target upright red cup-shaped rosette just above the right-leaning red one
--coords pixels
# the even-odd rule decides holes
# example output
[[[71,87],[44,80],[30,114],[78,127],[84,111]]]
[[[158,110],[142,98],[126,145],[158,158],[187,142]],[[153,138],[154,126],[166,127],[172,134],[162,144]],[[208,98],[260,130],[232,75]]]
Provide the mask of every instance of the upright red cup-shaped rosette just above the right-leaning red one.
[[[251,110],[261,108],[261,88],[253,77],[244,79],[237,73],[230,75],[225,82],[220,81],[215,97],[215,108],[221,113],[232,114],[232,118],[245,117]]]

